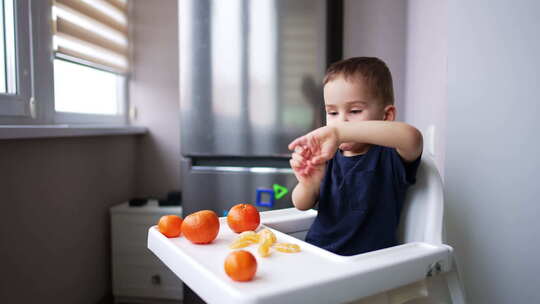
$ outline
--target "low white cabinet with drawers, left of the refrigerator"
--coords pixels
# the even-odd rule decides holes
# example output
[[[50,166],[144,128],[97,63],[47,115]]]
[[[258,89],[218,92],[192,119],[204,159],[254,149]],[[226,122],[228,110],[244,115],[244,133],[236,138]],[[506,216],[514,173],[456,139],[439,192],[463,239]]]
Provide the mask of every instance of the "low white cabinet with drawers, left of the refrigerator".
[[[156,303],[182,300],[182,281],[147,248],[148,229],[166,214],[182,216],[182,207],[114,206],[111,214],[112,283],[115,302]]]

